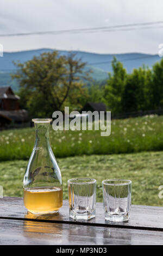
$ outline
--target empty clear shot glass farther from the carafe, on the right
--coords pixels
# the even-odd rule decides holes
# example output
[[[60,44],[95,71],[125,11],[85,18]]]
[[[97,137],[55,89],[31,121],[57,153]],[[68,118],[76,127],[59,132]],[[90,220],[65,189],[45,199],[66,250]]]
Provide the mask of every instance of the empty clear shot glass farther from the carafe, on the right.
[[[106,221],[123,222],[130,218],[131,181],[103,180],[103,203]]]

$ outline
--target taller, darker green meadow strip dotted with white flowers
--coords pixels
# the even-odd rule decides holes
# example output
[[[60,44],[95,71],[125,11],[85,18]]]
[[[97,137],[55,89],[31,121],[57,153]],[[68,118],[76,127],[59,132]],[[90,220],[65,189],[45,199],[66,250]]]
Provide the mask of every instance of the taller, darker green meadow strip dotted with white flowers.
[[[101,137],[101,131],[53,131],[51,127],[51,144],[56,157],[160,151],[162,125],[163,116],[154,115],[112,120],[108,137]],[[34,136],[34,128],[1,131],[0,160],[28,160]]]

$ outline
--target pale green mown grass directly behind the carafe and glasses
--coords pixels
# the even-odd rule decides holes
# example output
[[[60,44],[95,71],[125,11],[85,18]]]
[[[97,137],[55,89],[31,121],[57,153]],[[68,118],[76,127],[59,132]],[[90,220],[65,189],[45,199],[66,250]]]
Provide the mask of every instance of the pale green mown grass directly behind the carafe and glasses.
[[[67,199],[67,180],[89,177],[97,180],[97,202],[102,202],[104,179],[124,178],[133,181],[132,203],[163,206],[159,186],[163,185],[163,151],[120,155],[74,156],[57,159],[61,169],[64,199]],[[0,185],[4,196],[22,197],[22,180],[27,161],[0,163]]]

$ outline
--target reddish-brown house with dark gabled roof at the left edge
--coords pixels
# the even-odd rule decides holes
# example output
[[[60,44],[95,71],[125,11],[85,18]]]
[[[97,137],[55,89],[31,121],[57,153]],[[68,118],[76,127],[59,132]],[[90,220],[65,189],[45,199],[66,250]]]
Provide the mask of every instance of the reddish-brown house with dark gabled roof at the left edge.
[[[22,124],[29,121],[28,112],[20,109],[18,100],[11,87],[0,87],[0,126]]]

